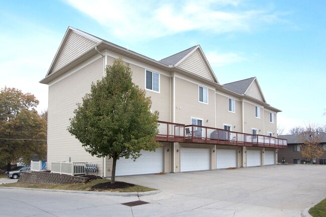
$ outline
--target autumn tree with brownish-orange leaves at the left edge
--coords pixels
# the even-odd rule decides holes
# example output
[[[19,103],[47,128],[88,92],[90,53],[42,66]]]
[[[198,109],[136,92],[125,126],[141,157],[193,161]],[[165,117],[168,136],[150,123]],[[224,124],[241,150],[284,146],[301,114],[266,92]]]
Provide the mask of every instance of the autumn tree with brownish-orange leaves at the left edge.
[[[7,163],[7,170],[21,158],[28,163],[35,154],[46,157],[47,117],[38,114],[38,104],[33,94],[1,89],[0,161]]]

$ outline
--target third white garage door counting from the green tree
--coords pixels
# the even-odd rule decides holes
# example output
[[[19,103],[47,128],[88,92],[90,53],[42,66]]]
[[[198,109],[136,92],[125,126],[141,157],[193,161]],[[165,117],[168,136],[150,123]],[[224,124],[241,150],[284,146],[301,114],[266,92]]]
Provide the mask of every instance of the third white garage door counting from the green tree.
[[[216,149],[216,168],[237,167],[237,150]]]

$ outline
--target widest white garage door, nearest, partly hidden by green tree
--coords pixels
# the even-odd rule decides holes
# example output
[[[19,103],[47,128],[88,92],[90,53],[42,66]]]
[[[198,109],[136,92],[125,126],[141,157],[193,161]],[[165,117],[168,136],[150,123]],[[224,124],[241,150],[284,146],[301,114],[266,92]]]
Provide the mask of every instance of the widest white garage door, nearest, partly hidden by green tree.
[[[116,162],[115,175],[150,174],[163,171],[163,148],[155,151],[140,151],[141,156],[133,159],[120,158]]]

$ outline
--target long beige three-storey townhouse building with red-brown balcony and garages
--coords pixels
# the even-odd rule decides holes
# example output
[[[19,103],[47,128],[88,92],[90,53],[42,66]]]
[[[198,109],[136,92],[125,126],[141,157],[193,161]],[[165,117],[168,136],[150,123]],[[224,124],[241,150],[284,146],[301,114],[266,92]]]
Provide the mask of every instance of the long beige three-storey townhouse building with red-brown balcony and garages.
[[[280,110],[266,103],[257,79],[221,85],[199,45],[156,61],[69,27],[40,81],[49,85],[48,169],[52,161],[87,161],[110,176],[112,160],[91,156],[67,126],[76,103],[118,57],[159,112],[162,147],[135,162],[119,159],[116,175],[275,164],[276,148],[286,147],[275,138]]]

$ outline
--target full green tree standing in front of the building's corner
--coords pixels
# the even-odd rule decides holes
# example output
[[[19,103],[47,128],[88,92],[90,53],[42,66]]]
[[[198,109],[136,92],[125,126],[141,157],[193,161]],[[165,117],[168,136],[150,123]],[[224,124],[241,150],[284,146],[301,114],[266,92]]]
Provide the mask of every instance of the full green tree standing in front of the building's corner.
[[[68,130],[92,156],[112,158],[114,183],[120,157],[135,160],[140,150],[160,146],[155,141],[158,116],[150,112],[150,99],[132,83],[130,67],[121,58],[105,70],[106,76],[77,104]]]

